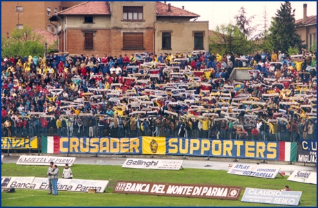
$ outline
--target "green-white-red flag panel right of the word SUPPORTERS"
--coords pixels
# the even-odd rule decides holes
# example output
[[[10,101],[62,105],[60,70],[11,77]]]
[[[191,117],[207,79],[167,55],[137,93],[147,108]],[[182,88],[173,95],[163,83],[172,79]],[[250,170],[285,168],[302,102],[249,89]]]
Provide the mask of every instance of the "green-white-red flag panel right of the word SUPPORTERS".
[[[279,142],[279,160],[297,161],[297,142]]]

